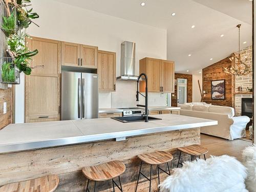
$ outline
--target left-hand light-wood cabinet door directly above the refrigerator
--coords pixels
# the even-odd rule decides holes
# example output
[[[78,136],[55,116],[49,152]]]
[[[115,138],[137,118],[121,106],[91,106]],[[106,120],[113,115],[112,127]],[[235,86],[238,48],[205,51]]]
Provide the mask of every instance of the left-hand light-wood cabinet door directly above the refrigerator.
[[[61,65],[62,66],[79,66],[80,45],[71,42],[61,42]]]

